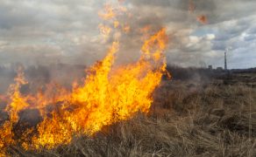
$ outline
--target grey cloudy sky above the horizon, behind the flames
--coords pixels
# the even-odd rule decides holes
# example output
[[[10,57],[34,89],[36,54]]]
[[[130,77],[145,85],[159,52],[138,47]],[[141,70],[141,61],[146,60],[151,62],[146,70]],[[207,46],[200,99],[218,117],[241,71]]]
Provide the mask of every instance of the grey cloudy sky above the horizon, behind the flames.
[[[114,1],[114,0],[112,0]],[[90,65],[105,55],[107,44],[99,35],[98,11],[105,0],[1,0],[0,65],[22,63]],[[110,0],[108,1],[110,3]],[[148,24],[167,27],[167,62],[181,66],[256,66],[256,1],[125,0],[132,17],[131,34],[123,37],[120,60],[139,54],[136,34]],[[196,20],[205,15],[207,24]],[[133,32],[133,34],[132,34]],[[135,33],[135,34],[134,34]]]

